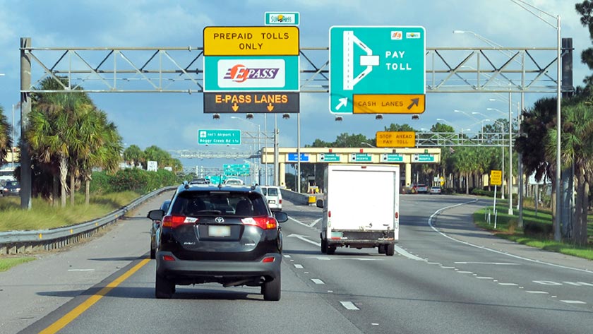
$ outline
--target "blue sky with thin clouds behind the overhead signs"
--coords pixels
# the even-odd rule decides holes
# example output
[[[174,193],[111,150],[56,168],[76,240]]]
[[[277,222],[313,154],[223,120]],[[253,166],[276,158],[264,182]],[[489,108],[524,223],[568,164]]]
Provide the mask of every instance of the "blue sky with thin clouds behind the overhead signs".
[[[562,37],[573,37],[574,83],[589,75],[580,64],[580,52],[591,46],[587,29],[575,12],[576,0],[528,0],[542,10],[560,15]],[[304,1],[31,1],[0,0],[0,105],[11,120],[11,107],[19,100],[19,39],[31,37],[34,47],[185,47],[202,45],[205,26],[263,25],[265,11],[298,11],[301,15],[301,47],[327,47],[332,25],[421,25],[426,28],[426,47],[487,47],[467,30],[503,47],[555,47],[556,30],[510,0],[304,0]],[[198,129],[241,129],[263,131],[265,120],[256,114],[251,123],[223,115],[212,120],[203,114],[198,94],[112,94],[90,95],[118,126],[124,143],[140,148],[157,145],[164,150],[215,150],[197,144]],[[526,107],[542,95],[526,94]],[[301,93],[301,145],[316,138],[334,141],[340,133],[362,133],[373,138],[389,124],[430,128],[436,119],[446,119],[460,128],[479,131],[479,124],[460,109],[481,112],[486,108],[508,110],[508,105],[489,101],[489,94],[437,94],[426,96],[426,112],[419,120],[409,114],[347,115],[335,121],[328,111],[327,93]],[[513,96],[514,101],[518,95]],[[490,112],[492,113],[492,112]],[[16,117],[18,121],[20,117]],[[274,119],[266,119],[272,131]],[[296,114],[278,119],[281,146],[296,146]],[[249,148],[239,148],[249,150]],[[219,162],[217,162],[219,163]],[[234,163],[234,162],[228,162]],[[186,165],[211,162],[184,161]]]

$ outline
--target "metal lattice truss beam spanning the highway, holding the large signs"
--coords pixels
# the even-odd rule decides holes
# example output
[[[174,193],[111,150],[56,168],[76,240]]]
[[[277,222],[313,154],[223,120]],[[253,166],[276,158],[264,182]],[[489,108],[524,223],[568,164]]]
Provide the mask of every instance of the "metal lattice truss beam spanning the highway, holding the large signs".
[[[32,80],[21,93],[203,93],[202,47],[21,47]],[[510,55],[508,54],[510,52]],[[301,93],[329,92],[328,47],[303,47]],[[555,93],[554,47],[426,49],[427,93]],[[68,78],[39,90],[44,78]]]

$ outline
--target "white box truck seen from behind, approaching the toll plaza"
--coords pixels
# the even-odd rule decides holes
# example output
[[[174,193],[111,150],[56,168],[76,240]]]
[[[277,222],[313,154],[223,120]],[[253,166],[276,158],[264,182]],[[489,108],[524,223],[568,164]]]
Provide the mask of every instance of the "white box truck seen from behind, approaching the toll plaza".
[[[400,167],[330,164],[324,171],[321,252],[377,247],[393,256],[400,236]]]

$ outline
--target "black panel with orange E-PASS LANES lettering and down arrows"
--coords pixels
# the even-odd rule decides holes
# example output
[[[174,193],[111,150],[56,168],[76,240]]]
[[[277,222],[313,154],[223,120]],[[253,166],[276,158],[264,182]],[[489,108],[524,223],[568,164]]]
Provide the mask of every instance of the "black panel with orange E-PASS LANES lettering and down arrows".
[[[205,114],[296,113],[298,92],[204,93]]]

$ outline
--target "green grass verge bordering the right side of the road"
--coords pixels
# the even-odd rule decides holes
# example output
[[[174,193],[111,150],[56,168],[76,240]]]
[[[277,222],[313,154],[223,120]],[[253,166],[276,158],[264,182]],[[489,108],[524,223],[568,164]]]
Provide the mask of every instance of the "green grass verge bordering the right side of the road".
[[[518,215],[508,215],[508,201],[496,203],[496,228],[495,215],[492,205],[474,213],[474,223],[481,228],[493,232],[496,237],[515,241],[519,244],[554,251],[570,256],[593,260],[593,222],[589,219],[588,234],[589,246],[580,247],[568,241],[553,240],[553,220],[549,210],[534,210],[523,208],[523,229],[517,227]],[[514,213],[517,210],[514,210]]]

